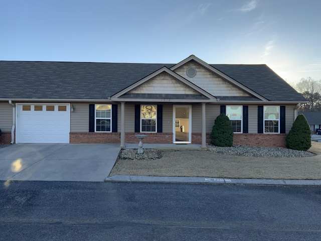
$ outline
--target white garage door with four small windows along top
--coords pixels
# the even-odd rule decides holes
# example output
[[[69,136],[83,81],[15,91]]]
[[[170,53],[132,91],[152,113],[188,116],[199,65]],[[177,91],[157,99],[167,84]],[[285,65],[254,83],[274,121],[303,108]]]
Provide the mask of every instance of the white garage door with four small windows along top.
[[[17,104],[16,143],[69,143],[69,104]]]

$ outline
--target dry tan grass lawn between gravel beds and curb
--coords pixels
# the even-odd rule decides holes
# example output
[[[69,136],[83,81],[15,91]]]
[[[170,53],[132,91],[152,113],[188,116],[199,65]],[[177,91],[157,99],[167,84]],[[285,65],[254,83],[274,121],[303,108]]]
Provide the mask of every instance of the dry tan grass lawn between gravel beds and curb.
[[[109,176],[173,176],[321,180],[321,143],[305,158],[259,158],[222,155],[202,150],[161,150],[156,160],[118,159]]]

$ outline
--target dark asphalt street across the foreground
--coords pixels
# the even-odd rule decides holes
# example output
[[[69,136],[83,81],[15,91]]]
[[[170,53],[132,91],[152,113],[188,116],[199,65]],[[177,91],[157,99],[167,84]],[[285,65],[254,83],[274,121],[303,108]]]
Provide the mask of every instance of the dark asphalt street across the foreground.
[[[0,182],[0,240],[320,240],[319,187]]]

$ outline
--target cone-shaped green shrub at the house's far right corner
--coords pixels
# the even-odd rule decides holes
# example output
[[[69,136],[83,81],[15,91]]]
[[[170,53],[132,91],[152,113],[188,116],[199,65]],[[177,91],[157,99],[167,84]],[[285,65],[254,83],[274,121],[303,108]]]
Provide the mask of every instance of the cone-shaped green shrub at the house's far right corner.
[[[293,150],[307,151],[311,147],[311,130],[303,114],[296,117],[285,142]]]

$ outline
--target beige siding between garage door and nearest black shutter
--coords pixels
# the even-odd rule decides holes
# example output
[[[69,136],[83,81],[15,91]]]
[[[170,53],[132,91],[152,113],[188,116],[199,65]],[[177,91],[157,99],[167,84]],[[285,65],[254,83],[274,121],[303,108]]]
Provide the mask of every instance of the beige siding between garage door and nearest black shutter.
[[[89,132],[89,103],[70,103],[75,111],[70,112],[70,132]]]

